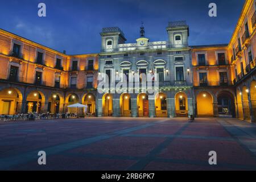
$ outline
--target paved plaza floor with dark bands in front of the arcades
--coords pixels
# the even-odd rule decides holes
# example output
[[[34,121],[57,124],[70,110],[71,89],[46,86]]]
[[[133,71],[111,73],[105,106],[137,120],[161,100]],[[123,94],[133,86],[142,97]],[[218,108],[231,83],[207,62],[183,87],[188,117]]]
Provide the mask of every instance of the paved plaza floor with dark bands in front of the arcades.
[[[0,131],[1,170],[256,169],[256,125],[233,118],[16,121],[1,122]]]

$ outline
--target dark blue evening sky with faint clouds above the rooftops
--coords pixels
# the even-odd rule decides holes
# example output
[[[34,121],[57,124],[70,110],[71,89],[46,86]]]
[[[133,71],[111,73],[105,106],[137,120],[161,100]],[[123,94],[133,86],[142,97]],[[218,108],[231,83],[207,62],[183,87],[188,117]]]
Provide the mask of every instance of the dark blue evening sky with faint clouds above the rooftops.
[[[39,18],[38,3],[47,6]],[[217,4],[217,17],[208,5]],[[245,0],[0,0],[0,28],[68,54],[100,51],[102,27],[118,26],[127,42],[139,37],[141,21],[150,41],[167,40],[169,21],[186,20],[189,45],[228,43]]]

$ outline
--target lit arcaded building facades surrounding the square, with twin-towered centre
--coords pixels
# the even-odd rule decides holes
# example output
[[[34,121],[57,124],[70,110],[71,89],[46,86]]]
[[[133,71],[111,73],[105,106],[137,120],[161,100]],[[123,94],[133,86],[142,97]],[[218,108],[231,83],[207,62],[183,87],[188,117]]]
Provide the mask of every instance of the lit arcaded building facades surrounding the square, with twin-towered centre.
[[[76,112],[67,106],[80,102],[98,117],[193,114],[255,122],[255,6],[245,1],[229,44],[210,46],[189,46],[184,21],[170,22],[168,40],[160,42],[150,42],[143,26],[129,44],[120,28],[103,28],[101,52],[87,55],[67,55],[0,30],[0,114]],[[139,81],[142,73],[154,76],[154,94]],[[114,88],[100,93],[98,78],[105,74]],[[136,75],[134,85],[118,87]]]

